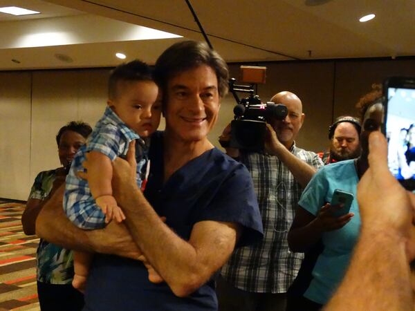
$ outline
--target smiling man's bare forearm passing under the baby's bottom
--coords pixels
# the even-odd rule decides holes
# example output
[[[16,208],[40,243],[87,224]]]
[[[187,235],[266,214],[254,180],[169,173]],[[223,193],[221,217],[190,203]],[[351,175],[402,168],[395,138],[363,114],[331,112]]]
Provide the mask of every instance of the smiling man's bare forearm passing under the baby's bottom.
[[[64,185],[46,202],[36,220],[36,234],[50,243],[80,252],[100,252],[138,258],[141,253],[123,224],[109,223],[104,229],[86,231],[73,225],[64,213]]]

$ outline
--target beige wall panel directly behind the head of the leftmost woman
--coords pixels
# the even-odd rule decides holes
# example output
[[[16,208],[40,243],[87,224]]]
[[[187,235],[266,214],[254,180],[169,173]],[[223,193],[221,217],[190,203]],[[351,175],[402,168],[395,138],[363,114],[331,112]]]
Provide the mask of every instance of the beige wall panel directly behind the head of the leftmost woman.
[[[105,70],[64,70],[33,73],[32,159],[30,178],[59,167],[55,135],[67,122],[91,126],[107,101]]]

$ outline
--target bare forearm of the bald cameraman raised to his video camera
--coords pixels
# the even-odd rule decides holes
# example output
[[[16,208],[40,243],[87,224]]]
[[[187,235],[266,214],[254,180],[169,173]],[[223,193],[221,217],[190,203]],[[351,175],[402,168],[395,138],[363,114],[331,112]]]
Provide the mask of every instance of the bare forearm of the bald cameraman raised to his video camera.
[[[302,187],[306,187],[311,180],[317,169],[307,164],[303,160],[293,155],[284,144],[279,142],[277,133],[275,133],[273,126],[266,124],[268,129],[268,137],[266,139],[266,151],[273,156],[277,156],[286,167],[291,171],[295,180],[299,182]]]

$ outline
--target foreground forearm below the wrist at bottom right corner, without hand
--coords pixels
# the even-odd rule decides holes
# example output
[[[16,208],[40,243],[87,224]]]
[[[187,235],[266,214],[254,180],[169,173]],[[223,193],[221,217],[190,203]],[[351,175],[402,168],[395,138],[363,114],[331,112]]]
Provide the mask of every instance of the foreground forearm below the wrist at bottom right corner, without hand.
[[[324,310],[413,310],[413,298],[403,238],[363,229],[342,285]]]

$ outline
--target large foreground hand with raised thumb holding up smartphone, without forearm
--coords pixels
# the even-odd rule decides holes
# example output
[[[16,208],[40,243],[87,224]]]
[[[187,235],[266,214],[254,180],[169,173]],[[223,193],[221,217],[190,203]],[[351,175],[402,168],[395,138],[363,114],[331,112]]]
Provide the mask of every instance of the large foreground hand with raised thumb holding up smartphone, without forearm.
[[[362,231],[402,236],[407,258],[415,258],[415,195],[399,184],[387,167],[387,142],[379,131],[369,136],[369,169],[358,184]]]

